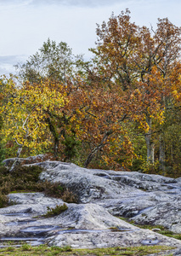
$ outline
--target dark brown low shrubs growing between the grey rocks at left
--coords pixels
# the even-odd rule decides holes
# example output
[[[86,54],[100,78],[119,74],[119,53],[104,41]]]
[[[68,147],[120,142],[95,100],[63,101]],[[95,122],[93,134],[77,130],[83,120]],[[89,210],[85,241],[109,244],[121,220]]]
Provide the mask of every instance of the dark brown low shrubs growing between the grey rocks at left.
[[[61,198],[65,202],[77,202],[76,195],[60,183],[40,182],[38,177],[41,172],[40,166],[17,166],[14,172],[9,172],[6,167],[1,166],[0,207],[11,204],[7,196],[9,193],[43,192],[45,195]]]

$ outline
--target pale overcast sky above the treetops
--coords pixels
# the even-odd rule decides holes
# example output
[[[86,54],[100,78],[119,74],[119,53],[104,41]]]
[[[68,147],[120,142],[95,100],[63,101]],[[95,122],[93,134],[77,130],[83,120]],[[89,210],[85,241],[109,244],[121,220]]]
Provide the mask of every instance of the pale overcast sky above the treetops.
[[[96,23],[112,12],[131,11],[139,26],[156,26],[166,18],[181,26],[180,0],[0,0],[0,74],[33,55],[48,38],[66,42],[74,54],[84,54],[96,41]]]

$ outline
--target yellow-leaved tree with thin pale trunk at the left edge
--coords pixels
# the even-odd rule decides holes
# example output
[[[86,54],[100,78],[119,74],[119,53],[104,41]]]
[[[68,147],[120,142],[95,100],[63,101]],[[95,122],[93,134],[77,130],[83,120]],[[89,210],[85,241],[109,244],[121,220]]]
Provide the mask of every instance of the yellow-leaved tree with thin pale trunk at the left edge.
[[[6,104],[0,109],[4,123],[3,140],[14,141],[18,146],[12,171],[23,148],[31,148],[33,154],[38,148],[48,147],[50,140],[45,136],[48,132],[48,112],[57,113],[64,106],[64,96],[49,81],[36,87],[30,83],[19,87],[13,79],[7,79],[5,84]]]

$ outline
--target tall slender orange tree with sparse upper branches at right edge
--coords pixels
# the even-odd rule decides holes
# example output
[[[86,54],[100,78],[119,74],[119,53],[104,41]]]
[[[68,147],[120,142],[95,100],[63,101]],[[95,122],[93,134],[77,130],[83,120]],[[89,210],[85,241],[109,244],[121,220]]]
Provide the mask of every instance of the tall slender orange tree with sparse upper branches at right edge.
[[[174,26],[168,19],[159,19],[157,30],[154,34],[157,45],[161,45],[158,55],[160,60],[157,61],[156,67],[161,73],[163,78],[163,93],[161,97],[161,104],[164,106],[165,111],[171,108],[171,97],[168,96],[173,91],[173,83],[177,83],[178,79],[172,81],[173,73],[178,70],[178,61],[181,49],[181,28]],[[158,57],[157,57],[158,58]],[[161,169],[165,172],[165,142],[164,131],[161,129],[160,135],[160,163]]]

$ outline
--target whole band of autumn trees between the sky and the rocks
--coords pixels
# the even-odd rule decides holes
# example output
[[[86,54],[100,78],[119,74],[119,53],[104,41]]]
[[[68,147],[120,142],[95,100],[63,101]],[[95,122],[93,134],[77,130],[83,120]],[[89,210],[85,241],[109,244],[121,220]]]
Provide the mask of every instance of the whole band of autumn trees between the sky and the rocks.
[[[48,154],[180,177],[181,28],[137,26],[127,9],[96,34],[89,61],[48,38],[17,77],[2,77],[0,160]]]

